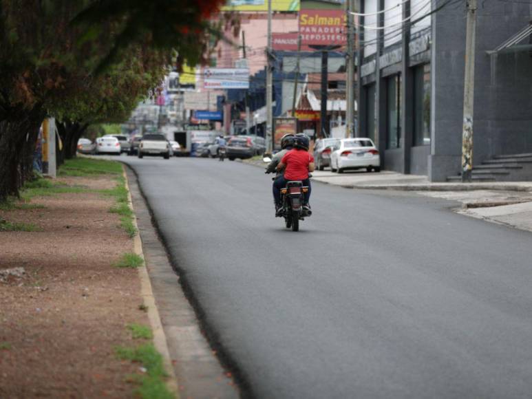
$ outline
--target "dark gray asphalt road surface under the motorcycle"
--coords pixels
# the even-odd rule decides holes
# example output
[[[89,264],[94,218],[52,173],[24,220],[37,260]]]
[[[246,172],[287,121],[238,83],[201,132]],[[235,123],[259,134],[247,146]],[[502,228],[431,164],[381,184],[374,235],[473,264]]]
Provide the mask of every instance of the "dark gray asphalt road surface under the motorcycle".
[[[125,159],[257,398],[531,398],[532,235],[313,184],[301,230],[238,162]]]

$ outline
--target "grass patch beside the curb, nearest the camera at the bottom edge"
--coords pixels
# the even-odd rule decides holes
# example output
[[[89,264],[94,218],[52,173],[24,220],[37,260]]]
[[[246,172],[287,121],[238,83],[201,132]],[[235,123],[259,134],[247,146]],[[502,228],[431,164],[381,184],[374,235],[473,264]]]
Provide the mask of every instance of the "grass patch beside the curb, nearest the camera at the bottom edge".
[[[162,356],[153,344],[140,345],[136,348],[116,347],[116,356],[122,360],[138,362],[145,367],[146,373],[138,377],[140,387],[136,393],[142,399],[172,399],[173,394],[164,383],[167,377],[162,364]]]

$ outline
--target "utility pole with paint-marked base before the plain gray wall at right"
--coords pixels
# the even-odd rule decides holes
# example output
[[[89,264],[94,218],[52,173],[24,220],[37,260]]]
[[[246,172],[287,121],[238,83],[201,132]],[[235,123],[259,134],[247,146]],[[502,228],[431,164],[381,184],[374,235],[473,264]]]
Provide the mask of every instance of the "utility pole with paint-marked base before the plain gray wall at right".
[[[467,0],[465,36],[464,125],[462,129],[462,182],[471,182],[473,169],[473,100],[475,96],[475,30],[477,0]]]

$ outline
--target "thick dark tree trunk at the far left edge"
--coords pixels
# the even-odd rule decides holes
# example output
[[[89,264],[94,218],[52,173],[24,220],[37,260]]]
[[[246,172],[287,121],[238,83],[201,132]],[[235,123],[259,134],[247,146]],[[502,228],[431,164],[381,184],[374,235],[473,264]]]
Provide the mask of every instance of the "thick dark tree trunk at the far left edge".
[[[40,106],[12,109],[0,120],[0,201],[19,195],[19,188],[32,175],[32,157],[39,127],[45,114]]]

